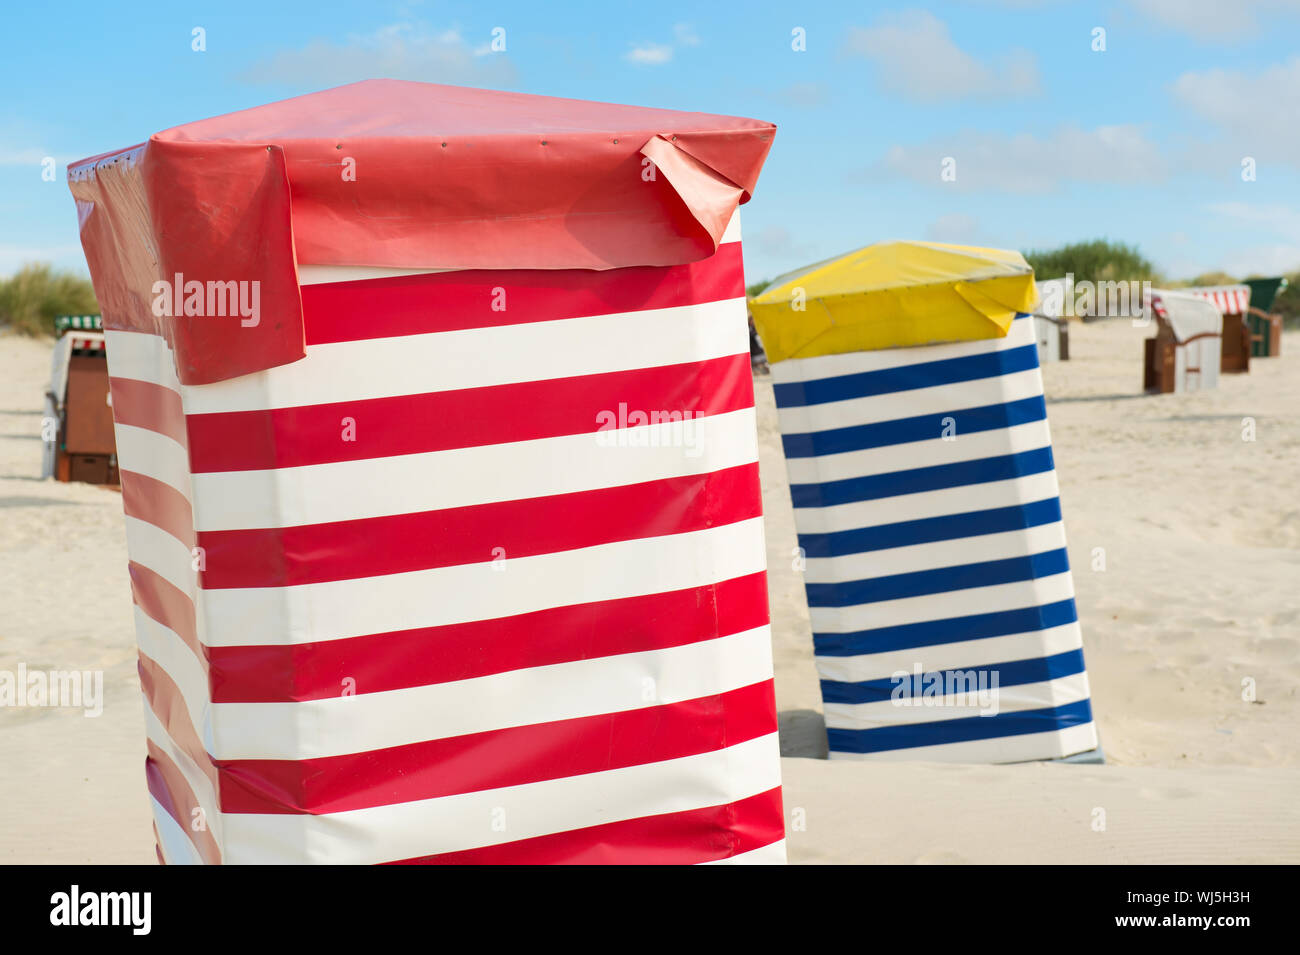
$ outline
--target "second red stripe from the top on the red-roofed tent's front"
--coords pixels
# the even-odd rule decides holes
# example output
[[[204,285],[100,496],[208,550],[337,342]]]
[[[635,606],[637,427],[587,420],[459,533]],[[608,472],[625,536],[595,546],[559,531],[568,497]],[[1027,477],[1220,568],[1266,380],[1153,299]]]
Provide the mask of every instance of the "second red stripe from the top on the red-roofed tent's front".
[[[592,434],[602,412],[722,414],[754,404],[748,355],[269,411],[190,414],[194,473],[268,470]]]

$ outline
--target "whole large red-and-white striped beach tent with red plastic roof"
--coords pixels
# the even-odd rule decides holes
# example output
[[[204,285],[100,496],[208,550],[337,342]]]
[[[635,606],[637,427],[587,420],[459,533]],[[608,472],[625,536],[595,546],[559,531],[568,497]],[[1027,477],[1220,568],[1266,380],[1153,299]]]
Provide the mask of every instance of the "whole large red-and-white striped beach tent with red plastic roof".
[[[372,81],[70,169],[164,861],[784,860],[772,135]]]

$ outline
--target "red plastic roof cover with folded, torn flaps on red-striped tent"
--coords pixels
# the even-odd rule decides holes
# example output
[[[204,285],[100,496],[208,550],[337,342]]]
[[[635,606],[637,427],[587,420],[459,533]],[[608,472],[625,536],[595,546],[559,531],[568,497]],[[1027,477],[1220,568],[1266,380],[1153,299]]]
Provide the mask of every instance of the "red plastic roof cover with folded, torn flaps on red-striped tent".
[[[181,382],[200,385],[304,355],[299,262],[705,259],[774,135],[755,120],[385,79],[178,126],[74,164],[69,182],[105,327],[162,335]]]

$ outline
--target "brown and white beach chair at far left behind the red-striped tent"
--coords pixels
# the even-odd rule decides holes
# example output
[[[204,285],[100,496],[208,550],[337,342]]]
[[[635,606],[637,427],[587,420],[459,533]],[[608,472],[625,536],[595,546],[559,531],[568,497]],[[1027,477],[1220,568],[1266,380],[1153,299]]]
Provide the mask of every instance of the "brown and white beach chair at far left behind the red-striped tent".
[[[42,477],[117,485],[117,446],[101,329],[98,314],[61,314],[55,320],[58,338],[46,390]]]

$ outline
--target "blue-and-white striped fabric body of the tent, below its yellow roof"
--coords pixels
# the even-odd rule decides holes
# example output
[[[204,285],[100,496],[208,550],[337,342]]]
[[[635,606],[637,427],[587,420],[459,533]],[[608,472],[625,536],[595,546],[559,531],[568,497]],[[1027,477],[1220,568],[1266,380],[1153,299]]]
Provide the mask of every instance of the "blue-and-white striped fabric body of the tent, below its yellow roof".
[[[831,756],[1095,750],[1034,320],[772,376]]]

